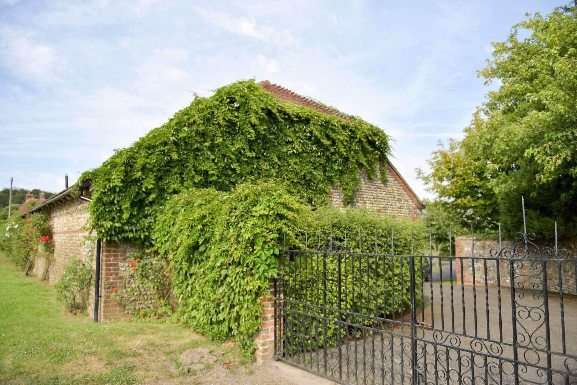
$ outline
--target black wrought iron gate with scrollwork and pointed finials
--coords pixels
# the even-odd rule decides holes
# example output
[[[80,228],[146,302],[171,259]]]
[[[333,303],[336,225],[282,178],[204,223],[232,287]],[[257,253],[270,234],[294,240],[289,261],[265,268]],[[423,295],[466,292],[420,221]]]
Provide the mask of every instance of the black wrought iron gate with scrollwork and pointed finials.
[[[490,257],[475,257],[472,229],[470,256],[398,255],[394,233],[386,254],[376,237],[353,253],[332,227],[325,244],[307,237],[283,250],[274,357],[347,384],[575,384],[577,260],[555,233],[539,248],[524,228]]]

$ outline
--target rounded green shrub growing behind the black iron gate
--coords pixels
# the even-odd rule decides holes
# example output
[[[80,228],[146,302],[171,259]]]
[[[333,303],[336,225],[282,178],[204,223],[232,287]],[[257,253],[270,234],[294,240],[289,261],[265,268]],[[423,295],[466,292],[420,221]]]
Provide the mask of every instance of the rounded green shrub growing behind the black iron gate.
[[[336,245],[348,246],[351,253],[380,253],[378,257],[353,256],[346,253],[340,255],[343,322],[349,324],[350,329],[357,330],[356,333],[358,333],[361,330],[359,327],[369,322],[373,323],[374,320],[357,316],[355,313],[390,317],[392,313],[409,309],[411,259],[389,256],[393,246],[391,230],[394,229],[395,255],[419,255],[418,251],[424,247],[427,239],[422,224],[392,217],[383,218],[376,213],[354,208],[343,212],[338,208],[324,207],[314,213],[313,225],[308,227],[306,233],[303,231],[300,234],[301,244],[306,242],[309,251],[314,251],[315,247],[318,250],[319,245],[329,245],[331,221],[332,236]],[[412,245],[411,229],[414,233]],[[375,243],[375,236],[377,243]],[[306,241],[305,237],[308,238]],[[299,249],[298,246],[295,248]],[[417,292],[421,290],[422,283],[420,263],[420,259],[415,259],[415,291]],[[323,307],[338,308],[337,255],[326,254],[323,258],[323,253],[289,253],[283,263],[283,270],[284,290],[288,293],[287,298],[316,305],[286,302],[285,306],[291,311],[287,312],[284,324],[285,337],[288,339],[293,335],[309,337],[302,345],[290,346],[288,344],[287,348],[310,350],[336,346],[339,339],[344,337],[345,328],[341,327],[342,335],[339,335],[338,323],[312,322],[312,320],[320,320],[324,316]],[[308,313],[313,317],[298,316],[295,311]],[[326,317],[336,320],[338,312],[329,310]],[[376,327],[384,327],[384,324]]]

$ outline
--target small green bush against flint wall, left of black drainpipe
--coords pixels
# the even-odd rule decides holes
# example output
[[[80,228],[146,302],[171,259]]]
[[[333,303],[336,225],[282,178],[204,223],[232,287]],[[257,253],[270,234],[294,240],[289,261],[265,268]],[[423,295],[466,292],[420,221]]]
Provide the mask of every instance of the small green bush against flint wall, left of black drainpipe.
[[[86,311],[93,275],[92,266],[80,259],[72,259],[66,264],[64,274],[55,287],[58,301],[70,313]]]

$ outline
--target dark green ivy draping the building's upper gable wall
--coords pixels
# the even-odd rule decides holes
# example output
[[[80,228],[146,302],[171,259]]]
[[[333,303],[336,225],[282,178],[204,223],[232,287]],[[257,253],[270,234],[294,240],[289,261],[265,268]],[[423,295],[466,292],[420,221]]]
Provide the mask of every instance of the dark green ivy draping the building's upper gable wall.
[[[342,186],[344,203],[352,203],[359,167],[374,177],[389,154],[387,134],[354,119],[282,103],[254,80],[196,96],[166,124],[81,176],[94,185],[91,227],[107,240],[151,246],[168,197],[193,188],[226,192],[268,178],[286,181],[291,193],[317,205],[327,201],[332,182]]]

